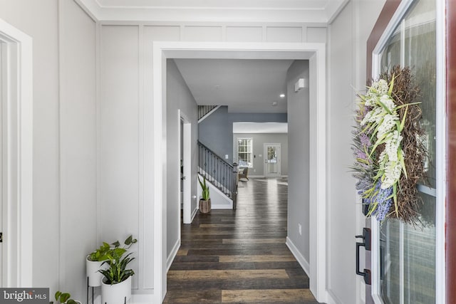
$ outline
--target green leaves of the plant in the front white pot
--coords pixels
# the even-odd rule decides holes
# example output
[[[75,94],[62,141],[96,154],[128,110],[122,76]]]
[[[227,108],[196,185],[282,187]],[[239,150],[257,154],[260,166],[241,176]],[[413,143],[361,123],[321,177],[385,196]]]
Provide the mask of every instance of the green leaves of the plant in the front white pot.
[[[133,269],[127,269],[128,263],[133,261],[135,258],[131,258],[132,253],[128,253],[125,256],[128,248],[130,248],[134,243],[138,242],[137,239],[133,239],[133,236],[129,236],[125,240],[125,245],[120,247],[119,241],[113,243],[114,248],[110,248],[110,251],[106,253],[105,263],[108,264],[108,269],[100,269],[99,272],[103,274],[105,279],[103,280],[106,284],[117,284],[125,281],[128,277],[133,276],[135,272]]]

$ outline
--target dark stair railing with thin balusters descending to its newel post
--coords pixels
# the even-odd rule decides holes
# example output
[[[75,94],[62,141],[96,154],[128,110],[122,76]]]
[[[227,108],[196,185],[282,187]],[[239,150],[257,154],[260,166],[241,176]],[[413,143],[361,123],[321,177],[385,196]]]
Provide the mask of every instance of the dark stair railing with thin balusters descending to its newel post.
[[[198,173],[214,187],[233,201],[237,202],[237,164],[229,164],[208,147],[198,142]]]

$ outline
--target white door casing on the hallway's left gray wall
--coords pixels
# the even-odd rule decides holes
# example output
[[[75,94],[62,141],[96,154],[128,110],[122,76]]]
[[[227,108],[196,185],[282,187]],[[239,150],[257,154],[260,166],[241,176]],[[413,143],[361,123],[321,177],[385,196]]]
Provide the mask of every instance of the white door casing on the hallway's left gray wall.
[[[184,173],[183,176],[185,177],[183,184],[183,189],[182,189],[182,196],[183,196],[183,221],[184,224],[192,224],[192,123],[190,120],[187,118],[187,115],[185,115],[182,110],[179,110],[179,145],[182,145],[181,147],[184,150],[184,153],[182,155],[182,163],[184,164]],[[180,133],[180,122],[183,122],[183,134]],[[183,140],[182,140],[183,137]],[[180,160],[180,159],[179,159]],[[180,172],[179,175],[180,177]],[[180,182],[180,181],[178,181]],[[180,187],[179,187],[180,188]],[[180,193],[179,193],[180,197]],[[179,206],[180,209],[180,206]],[[179,213],[179,219],[177,221],[180,223],[180,213]],[[180,225],[179,225],[180,227]],[[179,233],[180,235],[180,233]]]

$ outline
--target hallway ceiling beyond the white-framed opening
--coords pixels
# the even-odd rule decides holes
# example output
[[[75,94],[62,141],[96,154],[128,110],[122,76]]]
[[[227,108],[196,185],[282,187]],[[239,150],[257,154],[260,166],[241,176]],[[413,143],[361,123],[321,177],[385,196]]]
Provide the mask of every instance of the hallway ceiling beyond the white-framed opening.
[[[227,105],[229,112],[286,112],[286,71],[291,60],[175,59],[175,63],[198,105]]]

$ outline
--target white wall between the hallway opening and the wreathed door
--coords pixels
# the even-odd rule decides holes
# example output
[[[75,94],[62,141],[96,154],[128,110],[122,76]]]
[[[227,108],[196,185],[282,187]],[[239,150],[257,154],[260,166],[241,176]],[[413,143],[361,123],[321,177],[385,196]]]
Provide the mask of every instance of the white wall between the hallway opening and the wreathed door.
[[[351,126],[356,90],[366,85],[366,41],[384,2],[350,1],[328,30],[329,303],[357,303],[363,294],[363,284],[356,287],[362,278],[355,273],[355,235],[361,234],[364,219],[349,168]]]

